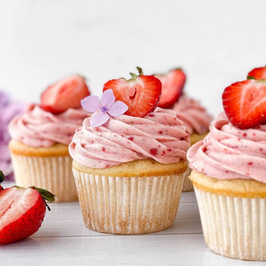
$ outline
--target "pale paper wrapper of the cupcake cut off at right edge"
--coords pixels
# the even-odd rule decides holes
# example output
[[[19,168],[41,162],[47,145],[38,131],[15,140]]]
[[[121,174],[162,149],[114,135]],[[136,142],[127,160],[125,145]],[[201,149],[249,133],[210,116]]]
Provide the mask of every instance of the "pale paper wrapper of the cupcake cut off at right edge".
[[[205,242],[212,251],[235,259],[266,260],[266,199],[194,190]]]

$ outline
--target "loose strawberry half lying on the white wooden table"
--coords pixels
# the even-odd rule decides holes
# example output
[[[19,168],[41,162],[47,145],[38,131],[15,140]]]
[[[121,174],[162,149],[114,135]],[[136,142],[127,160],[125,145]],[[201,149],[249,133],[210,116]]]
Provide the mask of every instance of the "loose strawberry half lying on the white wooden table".
[[[54,199],[52,193],[36,187],[15,186],[1,190],[0,244],[15,242],[37,232],[44,220],[45,200],[52,202]]]

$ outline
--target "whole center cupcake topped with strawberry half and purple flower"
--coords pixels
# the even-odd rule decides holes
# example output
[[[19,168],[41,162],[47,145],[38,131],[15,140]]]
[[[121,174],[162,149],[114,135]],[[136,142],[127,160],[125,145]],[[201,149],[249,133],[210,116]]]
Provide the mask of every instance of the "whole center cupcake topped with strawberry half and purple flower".
[[[156,108],[161,82],[133,75],[105,83],[69,146],[85,225],[110,234],[172,226],[187,170],[189,135],[171,110]],[[116,101],[117,100],[117,101]]]

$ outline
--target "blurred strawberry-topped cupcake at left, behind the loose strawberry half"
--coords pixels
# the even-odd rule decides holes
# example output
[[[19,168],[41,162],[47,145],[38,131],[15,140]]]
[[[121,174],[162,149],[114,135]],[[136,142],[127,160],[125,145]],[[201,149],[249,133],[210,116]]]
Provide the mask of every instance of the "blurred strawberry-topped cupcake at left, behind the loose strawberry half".
[[[89,95],[84,78],[71,76],[50,86],[41,104],[32,104],[9,124],[15,182],[43,187],[58,202],[78,200],[68,145],[89,116],[80,100]]]

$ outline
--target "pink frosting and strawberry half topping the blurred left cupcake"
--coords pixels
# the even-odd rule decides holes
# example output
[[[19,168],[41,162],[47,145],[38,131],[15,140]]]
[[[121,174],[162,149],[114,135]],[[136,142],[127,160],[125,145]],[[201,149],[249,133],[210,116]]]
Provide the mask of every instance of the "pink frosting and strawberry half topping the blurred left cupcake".
[[[88,87],[81,76],[58,81],[43,92],[41,104],[32,104],[26,113],[10,122],[12,138],[36,148],[56,143],[69,145],[75,130],[89,116],[80,103],[88,95]]]

